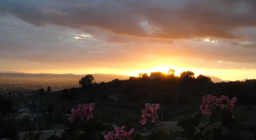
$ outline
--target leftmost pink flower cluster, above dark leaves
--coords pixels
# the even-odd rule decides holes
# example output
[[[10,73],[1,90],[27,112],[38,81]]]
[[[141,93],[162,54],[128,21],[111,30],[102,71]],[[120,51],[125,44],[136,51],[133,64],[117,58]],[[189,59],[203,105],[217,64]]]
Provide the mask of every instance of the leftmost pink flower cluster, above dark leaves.
[[[92,110],[93,110],[93,104],[90,103],[89,105],[86,103],[84,105],[78,105],[78,108],[75,110],[75,108],[71,109],[72,116],[69,117],[70,122],[73,122],[76,118],[80,118],[81,120],[84,120],[84,117],[89,120],[90,118],[93,118]]]

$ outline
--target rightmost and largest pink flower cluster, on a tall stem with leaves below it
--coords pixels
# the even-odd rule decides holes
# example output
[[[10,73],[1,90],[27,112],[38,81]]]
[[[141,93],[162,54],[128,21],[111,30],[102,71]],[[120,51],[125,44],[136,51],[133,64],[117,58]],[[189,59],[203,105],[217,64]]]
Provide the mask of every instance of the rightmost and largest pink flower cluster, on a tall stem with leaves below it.
[[[216,96],[207,95],[203,96],[203,104],[200,106],[203,114],[211,114],[211,109],[220,107],[221,109],[226,109],[233,111],[234,103],[237,101],[236,97],[229,100],[228,96],[222,95],[220,98]]]

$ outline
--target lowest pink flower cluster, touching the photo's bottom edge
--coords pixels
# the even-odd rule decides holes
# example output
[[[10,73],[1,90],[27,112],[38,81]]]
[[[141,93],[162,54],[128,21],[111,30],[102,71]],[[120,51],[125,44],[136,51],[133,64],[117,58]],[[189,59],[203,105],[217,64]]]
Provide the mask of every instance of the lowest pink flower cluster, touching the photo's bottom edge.
[[[134,132],[134,129],[132,128],[129,132],[126,132],[123,130],[124,128],[125,126],[122,126],[121,128],[116,127],[116,133],[114,134],[113,132],[109,132],[104,136],[105,140],[132,140],[130,137]]]

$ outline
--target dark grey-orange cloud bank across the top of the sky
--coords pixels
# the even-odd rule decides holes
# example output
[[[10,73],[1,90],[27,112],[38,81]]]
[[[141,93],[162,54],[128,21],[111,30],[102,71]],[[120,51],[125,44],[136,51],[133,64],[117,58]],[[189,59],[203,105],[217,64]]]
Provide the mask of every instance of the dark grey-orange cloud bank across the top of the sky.
[[[119,35],[154,38],[243,38],[256,27],[256,1],[14,1],[0,2],[2,15],[36,26],[96,27]]]

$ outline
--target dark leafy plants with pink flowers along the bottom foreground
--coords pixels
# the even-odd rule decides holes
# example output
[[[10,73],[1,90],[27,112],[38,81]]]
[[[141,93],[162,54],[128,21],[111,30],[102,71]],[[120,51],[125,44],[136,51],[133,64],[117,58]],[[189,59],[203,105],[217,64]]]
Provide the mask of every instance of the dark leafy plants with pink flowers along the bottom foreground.
[[[54,135],[48,140],[146,140],[146,139],[180,139],[180,140],[218,140],[218,139],[233,139],[230,135],[223,133],[222,128],[215,128],[217,123],[221,123],[223,127],[229,128],[233,131],[236,127],[236,120],[233,118],[232,112],[236,97],[231,100],[222,95],[217,98],[212,95],[204,96],[200,110],[191,117],[180,121],[177,126],[183,128],[183,131],[165,131],[164,124],[158,119],[157,110],[159,104],[146,103],[142,112],[142,119],[140,124],[144,125],[147,120],[152,123],[148,127],[147,132],[140,133],[132,129],[126,129],[125,126],[121,128],[114,128],[108,124],[103,116],[97,116],[97,107],[95,104],[78,105],[71,110],[72,115],[69,117],[69,129],[62,133],[61,138]],[[210,114],[208,123],[204,126],[199,126],[201,116],[203,114]],[[84,119],[86,118],[86,119]],[[210,130],[206,130],[207,126],[214,124]],[[157,129],[154,129],[157,128]]]

